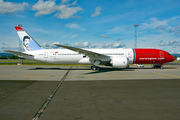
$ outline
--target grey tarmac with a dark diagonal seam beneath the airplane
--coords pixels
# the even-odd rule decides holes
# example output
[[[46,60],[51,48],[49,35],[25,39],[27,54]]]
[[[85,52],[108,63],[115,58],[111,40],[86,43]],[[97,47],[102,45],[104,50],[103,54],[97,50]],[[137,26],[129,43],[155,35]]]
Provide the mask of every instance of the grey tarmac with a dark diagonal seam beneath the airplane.
[[[179,120],[180,65],[0,66],[2,120]]]

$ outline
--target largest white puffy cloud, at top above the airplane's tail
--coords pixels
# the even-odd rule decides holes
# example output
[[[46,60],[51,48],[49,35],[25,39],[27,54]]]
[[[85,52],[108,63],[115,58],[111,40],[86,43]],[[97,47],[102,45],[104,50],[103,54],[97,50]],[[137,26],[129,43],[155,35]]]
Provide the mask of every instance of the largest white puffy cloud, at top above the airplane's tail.
[[[75,0],[72,4],[67,4],[68,2],[69,0],[62,0],[60,5],[56,5],[55,0],[45,2],[44,0],[39,0],[32,6],[32,10],[37,11],[35,13],[36,17],[56,12],[54,16],[60,19],[71,18],[74,14],[83,10],[81,7],[72,7],[73,5],[76,5],[77,0]],[[79,16],[74,17],[79,18]]]

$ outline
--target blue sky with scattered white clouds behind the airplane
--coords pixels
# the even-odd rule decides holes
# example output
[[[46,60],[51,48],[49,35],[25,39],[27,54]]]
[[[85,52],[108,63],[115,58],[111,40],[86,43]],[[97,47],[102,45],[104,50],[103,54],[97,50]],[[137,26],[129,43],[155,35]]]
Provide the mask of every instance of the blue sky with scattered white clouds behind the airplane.
[[[180,54],[179,0],[0,0],[0,52],[19,50],[21,24],[44,49],[157,48]]]

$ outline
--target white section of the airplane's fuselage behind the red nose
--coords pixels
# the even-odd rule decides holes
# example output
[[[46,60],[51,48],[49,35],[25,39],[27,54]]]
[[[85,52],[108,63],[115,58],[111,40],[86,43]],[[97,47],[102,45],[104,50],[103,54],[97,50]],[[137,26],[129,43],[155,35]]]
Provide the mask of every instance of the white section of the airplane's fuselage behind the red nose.
[[[98,59],[102,62],[111,61],[112,57],[127,57],[129,58],[129,63],[134,61],[133,49],[86,49],[92,52],[106,55],[107,57],[99,57]],[[28,59],[37,60],[41,62],[54,63],[54,64],[93,64],[97,59],[89,58],[86,55],[74,52],[68,49],[43,49],[36,51],[25,52],[27,54],[34,55],[33,57],[28,57]]]

